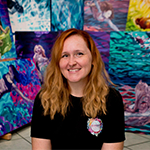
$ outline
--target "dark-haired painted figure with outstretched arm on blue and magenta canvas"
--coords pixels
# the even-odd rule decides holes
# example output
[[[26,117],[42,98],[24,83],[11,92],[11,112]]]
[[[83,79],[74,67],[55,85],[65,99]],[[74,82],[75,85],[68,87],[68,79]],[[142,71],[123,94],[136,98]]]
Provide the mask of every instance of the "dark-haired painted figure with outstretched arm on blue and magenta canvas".
[[[33,103],[32,100],[25,97],[23,93],[15,85],[15,82],[20,83],[23,80],[23,76],[17,72],[16,68],[13,65],[9,65],[8,73],[4,74],[0,79],[0,98],[8,92],[16,91],[25,101]]]

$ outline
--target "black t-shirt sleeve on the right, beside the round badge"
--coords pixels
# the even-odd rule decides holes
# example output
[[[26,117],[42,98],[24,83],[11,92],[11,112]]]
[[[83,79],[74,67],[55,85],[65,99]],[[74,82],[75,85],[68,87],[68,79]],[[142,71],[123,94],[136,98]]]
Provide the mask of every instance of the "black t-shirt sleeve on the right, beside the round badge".
[[[114,88],[107,97],[107,115],[103,122],[104,143],[125,140],[124,105],[121,94]]]

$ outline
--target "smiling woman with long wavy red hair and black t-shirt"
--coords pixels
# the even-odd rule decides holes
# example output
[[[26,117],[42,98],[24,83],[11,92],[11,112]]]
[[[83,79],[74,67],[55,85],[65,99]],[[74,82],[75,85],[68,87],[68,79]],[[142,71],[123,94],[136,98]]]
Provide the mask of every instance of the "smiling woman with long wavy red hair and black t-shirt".
[[[33,108],[32,150],[122,150],[124,108],[90,35],[69,29],[56,40]]]

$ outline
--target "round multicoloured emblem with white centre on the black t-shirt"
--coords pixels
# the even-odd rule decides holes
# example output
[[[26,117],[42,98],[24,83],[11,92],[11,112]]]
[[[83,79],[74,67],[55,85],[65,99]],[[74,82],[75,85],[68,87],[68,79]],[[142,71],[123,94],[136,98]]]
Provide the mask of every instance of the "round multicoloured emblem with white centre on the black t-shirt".
[[[95,136],[98,136],[103,129],[103,122],[99,118],[89,118],[87,121],[88,131]]]

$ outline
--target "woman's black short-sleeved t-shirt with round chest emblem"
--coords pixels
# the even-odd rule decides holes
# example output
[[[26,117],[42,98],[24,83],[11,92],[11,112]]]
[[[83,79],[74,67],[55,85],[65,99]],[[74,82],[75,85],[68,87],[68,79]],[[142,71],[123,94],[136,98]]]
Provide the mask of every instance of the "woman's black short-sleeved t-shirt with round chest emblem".
[[[43,115],[41,100],[37,95],[33,108],[31,123],[31,137],[50,139],[52,149],[101,149],[103,143],[115,143],[125,140],[124,134],[124,107],[120,93],[113,88],[107,96],[107,115],[94,118],[100,121],[101,127],[96,136],[90,130],[92,126],[82,112],[81,98],[70,96],[72,103],[68,113],[63,119],[56,114],[54,120]],[[90,120],[90,121],[91,121]],[[90,128],[90,129],[89,129]],[[88,130],[89,129],[89,130]]]

